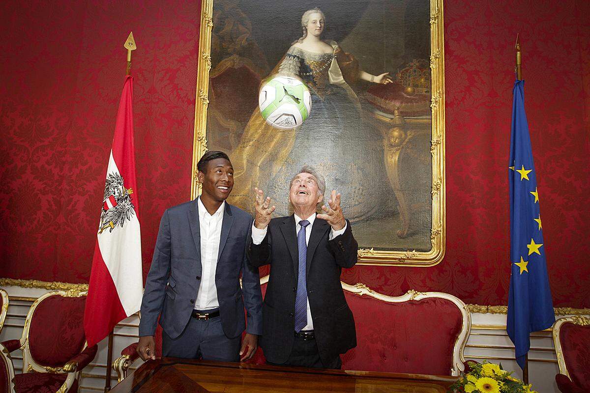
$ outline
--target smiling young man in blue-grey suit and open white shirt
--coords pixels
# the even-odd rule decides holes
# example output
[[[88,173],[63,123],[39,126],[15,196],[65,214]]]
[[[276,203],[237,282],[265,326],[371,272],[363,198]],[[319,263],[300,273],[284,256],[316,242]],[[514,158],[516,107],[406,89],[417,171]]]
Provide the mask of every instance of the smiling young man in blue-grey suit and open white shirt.
[[[230,159],[208,151],[197,167],[201,196],[166,210],[160,222],[139,323],[143,360],[159,355],[160,314],[163,356],[246,361],[262,333],[260,277],[245,256],[253,219],[225,202],[234,186]]]

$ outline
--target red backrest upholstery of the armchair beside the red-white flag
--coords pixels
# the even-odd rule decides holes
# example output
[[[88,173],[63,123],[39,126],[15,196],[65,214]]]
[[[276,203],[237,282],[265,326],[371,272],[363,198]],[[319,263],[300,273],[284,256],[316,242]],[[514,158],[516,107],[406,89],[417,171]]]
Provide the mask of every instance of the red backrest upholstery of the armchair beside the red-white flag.
[[[86,297],[50,296],[37,306],[29,331],[31,356],[42,366],[63,366],[82,351]]]

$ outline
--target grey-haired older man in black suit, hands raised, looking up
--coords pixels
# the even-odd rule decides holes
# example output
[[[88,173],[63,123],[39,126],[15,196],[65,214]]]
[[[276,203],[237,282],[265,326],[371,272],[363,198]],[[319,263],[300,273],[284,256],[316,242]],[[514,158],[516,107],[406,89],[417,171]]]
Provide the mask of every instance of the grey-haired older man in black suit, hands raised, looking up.
[[[340,272],[357,260],[358,243],[323,176],[303,167],[290,183],[294,215],[271,219],[270,197],[255,189],[256,217],[248,245],[252,266],[270,264],[260,346],[270,364],[340,368],[340,354],[356,346],[355,321]]]

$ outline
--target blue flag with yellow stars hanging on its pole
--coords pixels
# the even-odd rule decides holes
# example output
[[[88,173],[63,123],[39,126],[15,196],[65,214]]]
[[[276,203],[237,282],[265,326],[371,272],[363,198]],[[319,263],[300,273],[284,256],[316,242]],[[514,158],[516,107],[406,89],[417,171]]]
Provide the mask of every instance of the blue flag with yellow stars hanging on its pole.
[[[525,81],[514,82],[510,141],[510,295],[506,331],[525,368],[530,332],[553,325],[555,314],[547,276],[537,176],[525,114]]]

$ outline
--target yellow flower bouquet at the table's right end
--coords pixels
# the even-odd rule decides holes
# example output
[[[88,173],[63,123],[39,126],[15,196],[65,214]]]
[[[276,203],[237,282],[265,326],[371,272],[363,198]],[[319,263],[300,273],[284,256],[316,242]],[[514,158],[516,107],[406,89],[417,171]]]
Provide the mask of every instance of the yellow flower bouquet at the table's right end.
[[[461,373],[461,377],[449,388],[450,392],[537,393],[532,389],[532,385],[526,385],[520,379],[512,377],[512,371],[505,371],[501,365],[485,360],[481,364],[467,362],[467,365],[471,371]]]

